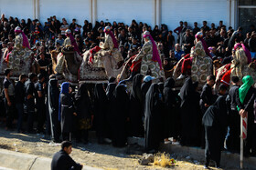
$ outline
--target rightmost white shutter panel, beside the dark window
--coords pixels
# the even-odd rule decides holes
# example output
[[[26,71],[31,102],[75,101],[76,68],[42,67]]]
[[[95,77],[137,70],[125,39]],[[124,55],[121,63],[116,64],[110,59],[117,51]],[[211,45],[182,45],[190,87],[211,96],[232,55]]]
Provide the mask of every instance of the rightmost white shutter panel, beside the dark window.
[[[162,0],[162,23],[169,30],[176,29],[180,21],[187,21],[191,27],[194,22],[201,27],[204,20],[208,21],[209,27],[211,23],[217,27],[219,20],[227,25],[228,14],[227,0]]]

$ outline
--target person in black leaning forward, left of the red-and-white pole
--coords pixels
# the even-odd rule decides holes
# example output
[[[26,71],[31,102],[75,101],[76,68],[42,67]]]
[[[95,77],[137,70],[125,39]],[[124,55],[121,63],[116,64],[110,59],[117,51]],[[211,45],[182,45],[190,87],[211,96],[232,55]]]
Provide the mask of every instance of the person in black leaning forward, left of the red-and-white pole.
[[[217,101],[208,107],[202,119],[202,123],[205,126],[206,167],[208,167],[210,159],[214,160],[216,166],[219,167],[221,149],[224,145],[223,137],[227,132],[227,122],[226,97],[219,96]]]

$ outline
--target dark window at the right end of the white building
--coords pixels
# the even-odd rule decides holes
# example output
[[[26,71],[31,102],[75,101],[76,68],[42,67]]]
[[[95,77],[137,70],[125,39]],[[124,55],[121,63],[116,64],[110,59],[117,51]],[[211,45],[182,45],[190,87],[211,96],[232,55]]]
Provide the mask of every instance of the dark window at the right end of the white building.
[[[250,25],[256,26],[256,0],[239,0],[239,26],[243,33],[250,30]]]

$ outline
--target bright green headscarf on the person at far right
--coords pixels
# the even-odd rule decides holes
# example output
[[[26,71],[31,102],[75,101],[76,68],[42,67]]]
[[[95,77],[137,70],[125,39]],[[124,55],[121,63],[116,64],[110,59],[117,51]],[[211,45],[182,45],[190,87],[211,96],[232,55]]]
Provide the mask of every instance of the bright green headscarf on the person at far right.
[[[243,104],[245,96],[247,95],[251,85],[254,84],[251,75],[246,75],[242,78],[243,85],[240,86],[239,94],[240,94],[240,102]]]

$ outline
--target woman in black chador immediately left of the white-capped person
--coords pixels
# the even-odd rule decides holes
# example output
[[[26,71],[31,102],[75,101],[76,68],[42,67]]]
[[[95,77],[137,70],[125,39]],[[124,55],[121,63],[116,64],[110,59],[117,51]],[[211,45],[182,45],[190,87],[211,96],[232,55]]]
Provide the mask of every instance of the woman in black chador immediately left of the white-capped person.
[[[130,95],[130,121],[132,125],[133,136],[144,136],[143,126],[143,94],[142,82],[144,75],[135,75],[133,77],[133,88]]]

